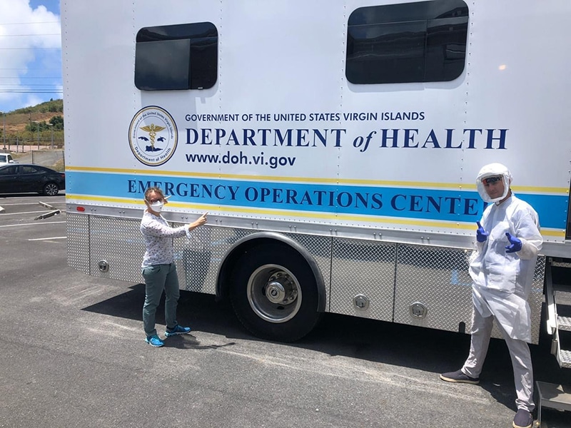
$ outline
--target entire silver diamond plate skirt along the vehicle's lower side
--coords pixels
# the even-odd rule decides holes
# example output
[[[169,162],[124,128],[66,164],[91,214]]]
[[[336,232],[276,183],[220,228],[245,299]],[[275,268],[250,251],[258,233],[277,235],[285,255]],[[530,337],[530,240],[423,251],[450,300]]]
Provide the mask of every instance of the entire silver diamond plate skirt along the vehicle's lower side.
[[[140,220],[132,218],[69,213],[70,267],[86,275],[141,282],[145,248],[139,224]],[[194,230],[190,241],[174,240],[181,285],[194,292],[215,294],[216,276],[225,255],[236,241],[257,232],[206,225]],[[300,243],[315,259],[328,291],[327,311],[449,331],[458,331],[458,325],[464,322],[465,331],[470,332],[470,252],[300,233],[283,235]],[[98,270],[99,260],[107,261],[107,272]],[[544,274],[545,257],[540,257],[530,295],[534,343],[541,327]],[[366,310],[355,307],[355,295],[364,295],[369,300]],[[426,317],[411,315],[410,305],[414,302],[428,308]],[[497,327],[492,334],[500,337]]]

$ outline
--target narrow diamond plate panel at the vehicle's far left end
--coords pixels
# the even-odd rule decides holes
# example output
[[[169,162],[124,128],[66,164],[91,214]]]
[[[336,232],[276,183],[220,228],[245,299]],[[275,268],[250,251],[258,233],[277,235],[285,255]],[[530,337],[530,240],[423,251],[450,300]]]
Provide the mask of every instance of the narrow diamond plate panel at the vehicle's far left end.
[[[89,215],[66,213],[67,264],[89,275]]]

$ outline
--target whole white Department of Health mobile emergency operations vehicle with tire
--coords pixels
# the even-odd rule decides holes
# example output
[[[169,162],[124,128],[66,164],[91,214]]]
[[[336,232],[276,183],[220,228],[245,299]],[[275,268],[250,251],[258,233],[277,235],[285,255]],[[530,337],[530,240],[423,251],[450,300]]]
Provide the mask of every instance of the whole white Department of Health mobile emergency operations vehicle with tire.
[[[181,284],[231,300],[254,335],[296,340],[323,312],[469,333],[475,177],[504,163],[545,238],[534,340],[546,300],[571,365],[570,1],[61,12],[71,267],[140,282],[158,185],[172,225],[209,213],[175,244]]]

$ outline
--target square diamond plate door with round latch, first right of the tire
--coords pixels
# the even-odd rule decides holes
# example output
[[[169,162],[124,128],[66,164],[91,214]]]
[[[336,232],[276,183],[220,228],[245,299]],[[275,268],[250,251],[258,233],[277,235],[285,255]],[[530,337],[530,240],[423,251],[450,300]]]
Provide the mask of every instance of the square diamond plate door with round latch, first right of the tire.
[[[395,253],[395,244],[333,239],[330,312],[392,321]],[[354,305],[357,295],[368,307]]]

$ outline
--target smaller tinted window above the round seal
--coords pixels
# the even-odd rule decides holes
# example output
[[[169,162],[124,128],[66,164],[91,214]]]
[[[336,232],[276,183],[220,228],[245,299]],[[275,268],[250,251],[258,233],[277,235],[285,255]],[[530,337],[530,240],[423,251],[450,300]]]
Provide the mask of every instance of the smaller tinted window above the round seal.
[[[146,27],[138,31],[135,86],[146,91],[211,88],[218,73],[214,24]]]

